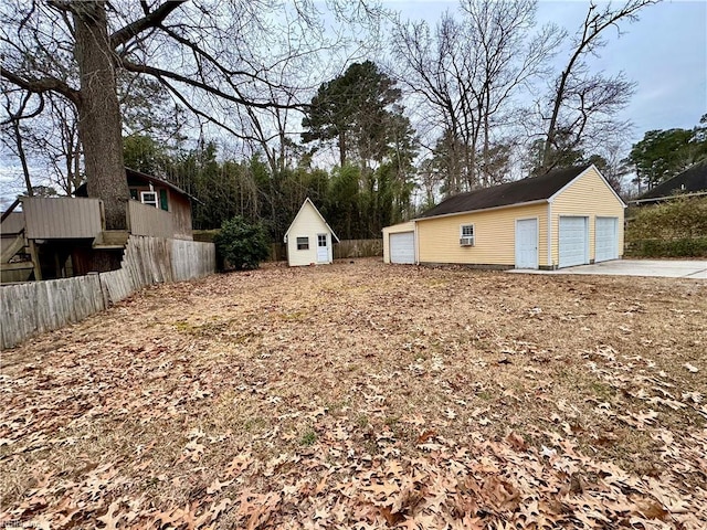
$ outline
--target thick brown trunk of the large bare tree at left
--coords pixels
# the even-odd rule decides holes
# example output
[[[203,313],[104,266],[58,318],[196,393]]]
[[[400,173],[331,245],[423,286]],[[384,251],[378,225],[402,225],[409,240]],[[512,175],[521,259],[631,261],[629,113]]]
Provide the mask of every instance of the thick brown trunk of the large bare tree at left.
[[[72,10],[81,74],[78,136],[84,146],[88,197],[103,201],[106,229],[125,230],[129,191],[105,2],[74,2]]]

